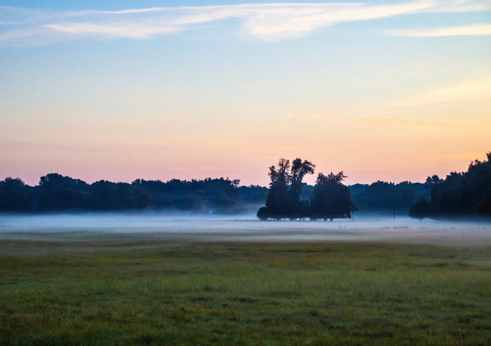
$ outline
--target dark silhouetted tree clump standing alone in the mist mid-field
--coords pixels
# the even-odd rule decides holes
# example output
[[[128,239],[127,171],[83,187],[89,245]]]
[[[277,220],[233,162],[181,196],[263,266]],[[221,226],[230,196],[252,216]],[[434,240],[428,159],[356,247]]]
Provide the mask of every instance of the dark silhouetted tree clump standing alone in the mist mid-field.
[[[349,188],[342,184],[346,176],[319,173],[311,198],[302,199],[306,174],[313,174],[315,165],[295,158],[290,164],[280,158],[277,166],[269,167],[270,189],[266,206],[259,208],[257,217],[267,219],[334,219],[351,217],[355,206]]]

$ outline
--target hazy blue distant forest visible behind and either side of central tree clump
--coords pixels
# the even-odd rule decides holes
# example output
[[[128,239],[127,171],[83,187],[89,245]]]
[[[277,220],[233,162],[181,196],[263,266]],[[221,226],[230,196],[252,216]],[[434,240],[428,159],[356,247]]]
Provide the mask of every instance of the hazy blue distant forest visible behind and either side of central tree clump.
[[[239,180],[211,179],[167,182],[136,179],[132,183],[96,181],[46,174],[39,185],[21,179],[0,181],[1,212],[72,212],[167,210],[176,212],[236,213],[257,211],[264,206],[270,189],[239,186]],[[299,199],[310,201],[313,185],[301,184]],[[429,197],[423,183],[385,183],[349,186],[352,200],[360,210],[406,213],[419,197]]]

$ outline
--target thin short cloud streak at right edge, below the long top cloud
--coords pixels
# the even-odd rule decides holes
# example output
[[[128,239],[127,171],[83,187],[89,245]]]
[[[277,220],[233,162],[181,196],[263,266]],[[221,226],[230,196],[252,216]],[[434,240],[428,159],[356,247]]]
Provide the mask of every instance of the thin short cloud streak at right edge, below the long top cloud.
[[[491,24],[470,24],[463,26],[445,26],[418,30],[389,30],[388,35],[404,37],[442,37],[491,35]]]

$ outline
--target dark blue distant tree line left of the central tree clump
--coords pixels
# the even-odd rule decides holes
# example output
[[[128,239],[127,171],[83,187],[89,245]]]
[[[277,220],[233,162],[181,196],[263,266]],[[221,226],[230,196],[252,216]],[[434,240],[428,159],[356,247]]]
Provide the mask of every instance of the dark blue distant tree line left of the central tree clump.
[[[266,190],[266,188],[263,188]],[[243,187],[252,199],[261,199],[260,187]],[[259,196],[259,197],[258,197]],[[116,211],[166,209],[181,211],[234,211],[241,208],[239,180],[172,179],[133,183],[96,181],[88,184],[80,179],[57,173],[41,176],[39,185],[30,187],[21,179],[0,181],[0,211],[3,212],[59,212],[76,210]]]

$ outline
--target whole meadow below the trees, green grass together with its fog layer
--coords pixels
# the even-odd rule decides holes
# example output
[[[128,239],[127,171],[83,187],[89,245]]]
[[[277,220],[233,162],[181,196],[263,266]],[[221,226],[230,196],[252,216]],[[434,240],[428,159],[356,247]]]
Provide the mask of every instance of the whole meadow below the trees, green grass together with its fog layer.
[[[0,216],[0,345],[490,345],[491,224]]]

